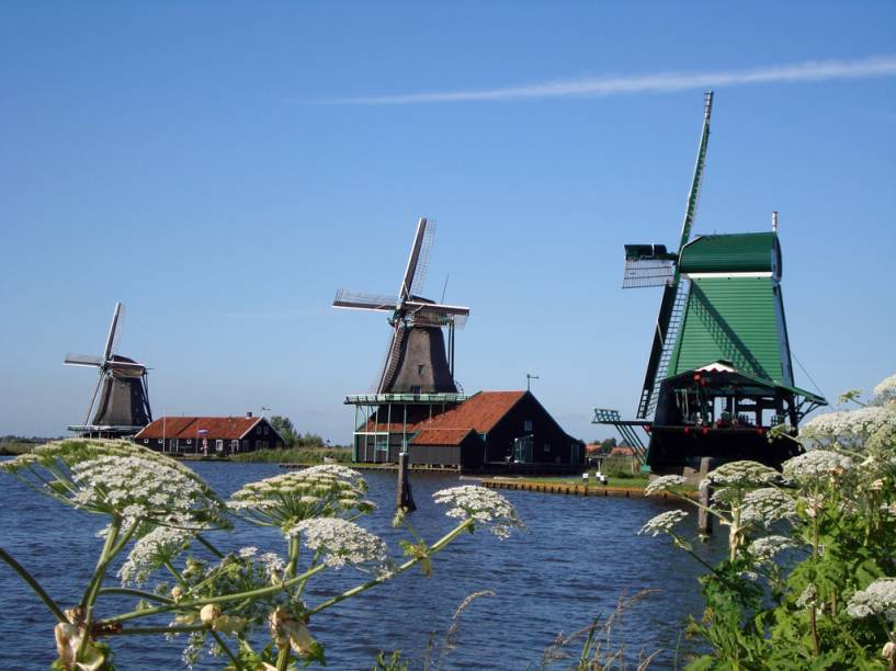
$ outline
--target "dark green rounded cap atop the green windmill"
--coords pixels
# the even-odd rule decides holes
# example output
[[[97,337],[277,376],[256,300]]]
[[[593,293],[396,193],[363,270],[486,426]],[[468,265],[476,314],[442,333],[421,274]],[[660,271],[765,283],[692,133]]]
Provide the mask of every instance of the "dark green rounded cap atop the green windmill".
[[[779,253],[773,232],[702,236],[684,246],[682,273],[768,273]]]

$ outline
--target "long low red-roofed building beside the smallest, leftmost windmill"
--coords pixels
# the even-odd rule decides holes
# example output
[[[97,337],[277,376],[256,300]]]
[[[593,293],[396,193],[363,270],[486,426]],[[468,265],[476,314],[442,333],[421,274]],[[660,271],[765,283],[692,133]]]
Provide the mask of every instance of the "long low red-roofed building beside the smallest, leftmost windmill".
[[[159,452],[235,454],[282,450],[285,443],[263,417],[162,417],[134,436],[134,442]]]

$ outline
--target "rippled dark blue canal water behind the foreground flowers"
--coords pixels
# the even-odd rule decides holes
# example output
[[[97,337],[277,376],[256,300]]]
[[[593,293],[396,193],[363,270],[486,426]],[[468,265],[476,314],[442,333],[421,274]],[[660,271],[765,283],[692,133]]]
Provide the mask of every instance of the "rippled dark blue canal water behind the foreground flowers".
[[[223,496],[245,482],[281,473],[271,464],[192,466]],[[382,535],[400,559],[398,541],[402,534],[389,524],[395,475],[367,473],[365,478],[378,509],[363,523]],[[461,484],[468,482],[460,482],[456,476],[412,475],[419,509],[410,519],[428,541],[435,541],[453,526],[444,509],[432,502],[432,493]],[[642,652],[661,650],[651,669],[677,666],[677,658],[689,645],[681,637],[682,623],[689,614],[701,611],[701,569],[693,558],[671,548],[667,538],[637,535],[644,522],[669,510],[672,503],[640,498],[501,493],[517,507],[526,523],[525,531],[506,541],[489,533],[464,535],[435,556],[431,578],[413,569],[315,617],[311,630],[326,646],[329,668],[371,669],[377,651],[400,649],[402,659],[419,669],[429,648],[432,668],[535,669],[559,633],[572,633],[598,616],[611,615],[620,596],[640,590],[653,591],[624,613],[613,629],[613,642],[624,642],[626,656],[633,661]],[[691,532],[694,525],[695,520]],[[94,533],[101,526],[99,515],[63,507],[11,476],[0,475],[0,546],[65,607],[77,602],[92,571],[100,549]],[[215,542],[222,548],[253,545],[263,551],[285,554],[276,532],[246,524],[231,534],[218,534]],[[724,551],[723,544],[719,534],[706,545],[697,544],[697,550],[715,562]],[[306,602],[318,603],[365,579],[364,573],[351,568],[324,573],[309,583]],[[458,619],[453,646],[442,655],[455,610],[467,595],[483,590],[495,595],[470,603]],[[120,605],[117,612],[129,610],[126,603]],[[5,642],[2,667],[46,669],[55,658],[54,624],[30,589],[0,565],[0,630]],[[183,668],[183,644],[178,640],[127,637],[113,640],[113,646],[118,669]],[[578,641],[569,648],[574,656],[579,650]],[[440,655],[441,661],[435,664]],[[204,659],[195,668],[224,666],[215,661]],[[557,662],[552,668],[566,668],[570,662]]]

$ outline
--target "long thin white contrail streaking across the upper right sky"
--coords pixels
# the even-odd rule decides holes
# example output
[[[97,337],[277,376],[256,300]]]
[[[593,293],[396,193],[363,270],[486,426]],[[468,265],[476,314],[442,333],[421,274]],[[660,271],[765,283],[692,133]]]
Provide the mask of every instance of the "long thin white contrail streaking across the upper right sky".
[[[877,56],[863,60],[813,60],[750,70],[587,77],[497,89],[339,98],[318,102],[322,104],[407,105],[439,102],[535,100],[543,98],[598,98],[621,93],[666,93],[687,89],[712,89],[757,83],[829,81],[893,76],[896,76],[896,56]]]

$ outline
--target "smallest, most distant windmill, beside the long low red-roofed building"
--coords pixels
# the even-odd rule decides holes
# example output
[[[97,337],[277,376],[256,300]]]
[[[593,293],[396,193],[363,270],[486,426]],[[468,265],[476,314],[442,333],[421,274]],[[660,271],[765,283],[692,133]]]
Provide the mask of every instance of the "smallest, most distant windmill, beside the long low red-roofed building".
[[[64,363],[67,365],[99,368],[99,379],[90,399],[84,425],[76,430],[126,435],[152,421],[146,366],[114,353],[121,333],[121,320],[122,304],[116,303],[102,356],[66,355]]]

